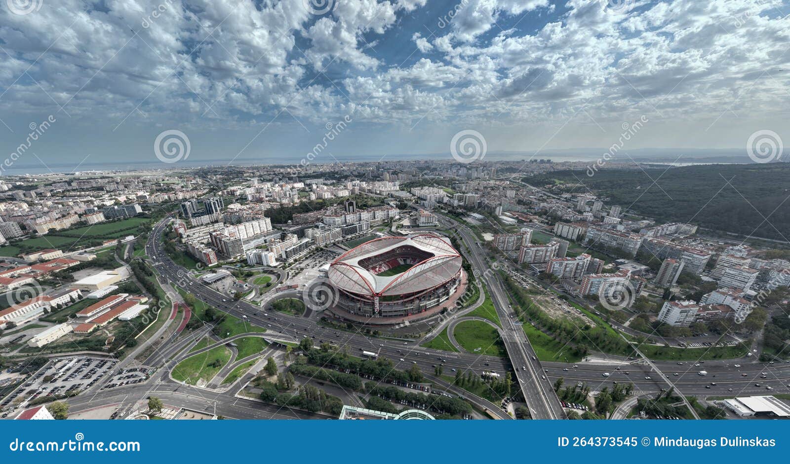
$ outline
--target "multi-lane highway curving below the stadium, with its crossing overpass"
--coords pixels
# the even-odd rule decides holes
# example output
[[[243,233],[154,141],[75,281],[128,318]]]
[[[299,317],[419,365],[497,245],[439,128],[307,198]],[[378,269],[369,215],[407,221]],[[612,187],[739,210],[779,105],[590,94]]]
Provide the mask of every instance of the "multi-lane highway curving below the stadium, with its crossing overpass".
[[[246,316],[246,320],[251,324],[279,331],[295,339],[311,337],[315,342],[329,341],[347,346],[349,350],[374,351],[379,356],[392,360],[399,369],[408,369],[408,366],[414,363],[419,365],[423,372],[433,372],[434,365],[438,364],[443,365],[445,372],[449,370],[452,372],[453,369],[461,371],[472,369],[478,373],[486,370],[513,371],[524,393],[525,401],[529,405],[532,417],[535,418],[564,417],[562,407],[559,405],[559,400],[551,385],[559,377],[563,377],[566,384],[570,382],[588,384],[593,391],[600,390],[604,386],[611,388],[615,382],[633,383],[635,391],[657,392],[668,387],[668,384],[661,380],[652,368],[645,365],[627,362],[578,363],[574,368],[572,364],[538,361],[524,331],[513,317],[507,294],[499,281],[498,273],[491,271],[491,264],[471,231],[451,219],[442,217],[442,220],[457,230],[469,251],[468,260],[472,267],[479,272],[480,279],[486,283],[504,326],[502,327],[502,339],[510,360],[513,362],[477,354],[431,350],[408,340],[394,341],[371,338],[361,333],[323,327],[316,324],[314,320],[305,317],[288,316],[279,312],[265,312],[265,309],[251,305],[246,301],[234,301],[194,279],[189,271],[174,264],[164,253],[161,232],[167,221],[156,224],[155,230],[150,234],[149,242],[146,244],[146,252],[160,275],[181,286],[194,297],[228,312],[232,316]],[[301,294],[288,292],[279,294],[278,297],[280,296],[301,297]],[[767,391],[790,391],[790,387],[788,387],[790,365],[762,365],[747,361],[743,361],[743,365],[740,367],[735,367],[736,364],[736,361],[708,361],[707,364],[699,367],[688,362],[683,365],[659,362],[656,363],[656,368],[664,372],[668,379],[676,384],[685,395],[754,395],[765,394]],[[709,374],[707,376],[698,375],[702,369],[705,369]],[[609,375],[604,376],[604,373]],[[767,387],[771,387],[771,390],[768,390]],[[501,414],[501,411],[496,411],[496,413]]]

